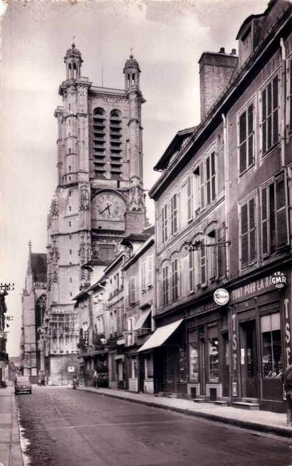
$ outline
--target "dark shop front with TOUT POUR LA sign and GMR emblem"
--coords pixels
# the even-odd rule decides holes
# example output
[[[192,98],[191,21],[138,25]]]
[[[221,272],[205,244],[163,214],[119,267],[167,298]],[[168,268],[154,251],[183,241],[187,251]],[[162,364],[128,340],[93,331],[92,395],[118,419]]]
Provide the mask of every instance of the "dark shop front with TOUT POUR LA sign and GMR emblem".
[[[291,363],[291,312],[285,270],[231,290],[231,400],[283,412],[281,375]]]

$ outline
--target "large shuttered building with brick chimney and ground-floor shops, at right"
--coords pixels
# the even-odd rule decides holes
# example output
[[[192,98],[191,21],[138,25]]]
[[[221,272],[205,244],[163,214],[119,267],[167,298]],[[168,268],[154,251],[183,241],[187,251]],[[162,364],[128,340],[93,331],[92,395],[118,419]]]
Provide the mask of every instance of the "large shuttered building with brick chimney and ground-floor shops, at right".
[[[156,391],[284,409],[291,16],[291,4],[270,1],[242,24],[238,57],[202,54],[201,122],[179,131],[155,167],[157,330],[141,351],[153,351]]]

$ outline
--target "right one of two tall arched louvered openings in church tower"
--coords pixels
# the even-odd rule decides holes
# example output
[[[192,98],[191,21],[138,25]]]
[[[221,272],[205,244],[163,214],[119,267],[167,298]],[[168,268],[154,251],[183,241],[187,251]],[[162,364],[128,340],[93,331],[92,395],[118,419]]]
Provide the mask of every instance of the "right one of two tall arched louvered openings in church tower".
[[[122,174],[122,114],[119,110],[110,112],[110,176]]]

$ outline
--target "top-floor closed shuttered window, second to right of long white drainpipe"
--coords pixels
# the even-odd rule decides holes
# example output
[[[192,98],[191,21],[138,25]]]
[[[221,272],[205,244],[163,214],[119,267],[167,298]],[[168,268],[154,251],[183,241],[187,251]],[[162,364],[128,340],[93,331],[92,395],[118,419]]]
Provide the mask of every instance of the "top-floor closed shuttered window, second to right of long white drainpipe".
[[[263,155],[278,143],[278,76],[261,92],[261,147]]]

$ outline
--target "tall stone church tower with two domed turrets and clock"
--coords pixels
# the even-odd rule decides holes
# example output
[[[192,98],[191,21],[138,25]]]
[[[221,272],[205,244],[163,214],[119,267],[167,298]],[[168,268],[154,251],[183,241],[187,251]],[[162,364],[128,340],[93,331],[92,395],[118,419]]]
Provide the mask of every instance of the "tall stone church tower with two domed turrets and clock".
[[[58,106],[58,186],[48,215],[48,340],[51,383],[67,383],[77,366],[78,315],[73,298],[119,253],[129,233],[145,228],[140,66],[123,68],[125,88],[94,86],[81,76],[72,44]]]

